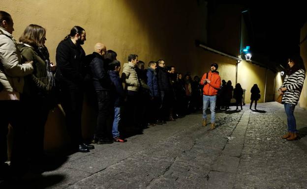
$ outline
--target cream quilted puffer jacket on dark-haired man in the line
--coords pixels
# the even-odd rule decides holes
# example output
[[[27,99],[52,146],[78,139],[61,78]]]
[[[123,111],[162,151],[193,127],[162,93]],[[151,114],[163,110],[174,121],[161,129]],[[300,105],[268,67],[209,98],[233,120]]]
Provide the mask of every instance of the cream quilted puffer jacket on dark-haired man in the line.
[[[125,88],[131,91],[138,91],[140,84],[138,75],[135,71],[135,66],[131,63],[123,64],[122,80],[125,83]]]

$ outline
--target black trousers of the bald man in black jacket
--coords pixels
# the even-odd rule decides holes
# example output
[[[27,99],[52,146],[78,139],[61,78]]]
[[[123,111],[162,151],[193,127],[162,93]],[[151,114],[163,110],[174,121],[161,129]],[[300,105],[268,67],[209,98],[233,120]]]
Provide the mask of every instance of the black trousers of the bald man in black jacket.
[[[108,90],[97,91],[98,116],[94,137],[112,137],[112,119],[114,106],[111,103],[111,94]]]

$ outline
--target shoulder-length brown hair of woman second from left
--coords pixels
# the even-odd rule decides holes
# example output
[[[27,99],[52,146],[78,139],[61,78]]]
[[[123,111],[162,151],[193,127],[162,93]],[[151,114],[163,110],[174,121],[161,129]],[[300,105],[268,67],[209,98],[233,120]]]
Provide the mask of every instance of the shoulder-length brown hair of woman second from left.
[[[19,41],[31,45],[32,47],[44,47],[46,29],[44,27],[31,24],[26,27]]]

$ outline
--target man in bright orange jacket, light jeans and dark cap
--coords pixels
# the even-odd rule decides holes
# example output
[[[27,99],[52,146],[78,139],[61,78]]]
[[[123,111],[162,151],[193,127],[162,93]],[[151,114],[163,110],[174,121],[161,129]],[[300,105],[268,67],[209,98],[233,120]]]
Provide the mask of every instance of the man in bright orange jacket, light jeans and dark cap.
[[[200,81],[203,88],[203,126],[207,125],[206,109],[210,102],[211,111],[211,129],[215,129],[215,104],[217,91],[220,89],[221,81],[216,71],[218,65],[216,63],[211,64],[210,71],[205,73]]]

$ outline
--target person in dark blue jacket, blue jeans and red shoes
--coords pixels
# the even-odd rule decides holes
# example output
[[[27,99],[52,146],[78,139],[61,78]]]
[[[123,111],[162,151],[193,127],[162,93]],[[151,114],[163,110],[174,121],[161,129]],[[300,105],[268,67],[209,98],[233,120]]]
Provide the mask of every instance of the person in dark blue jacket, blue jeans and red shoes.
[[[113,97],[114,102],[114,121],[112,127],[113,140],[115,142],[125,142],[127,140],[120,138],[120,132],[118,130],[118,126],[121,120],[121,106],[123,104],[123,99],[125,96],[122,81],[119,74],[121,70],[121,62],[118,60],[113,60],[109,64],[109,69],[109,76],[113,85],[111,96]]]

